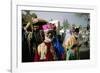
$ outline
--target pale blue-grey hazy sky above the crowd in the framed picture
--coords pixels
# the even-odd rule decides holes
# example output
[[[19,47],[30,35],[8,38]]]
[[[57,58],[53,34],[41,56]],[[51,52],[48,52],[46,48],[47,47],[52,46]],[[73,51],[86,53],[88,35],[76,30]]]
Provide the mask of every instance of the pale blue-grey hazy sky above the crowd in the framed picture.
[[[87,17],[88,15],[79,16],[80,13],[72,12],[47,12],[47,11],[30,11],[30,13],[35,13],[39,18],[43,18],[47,21],[59,20],[61,25],[64,20],[67,20],[69,24],[76,24],[85,26],[88,24]]]

